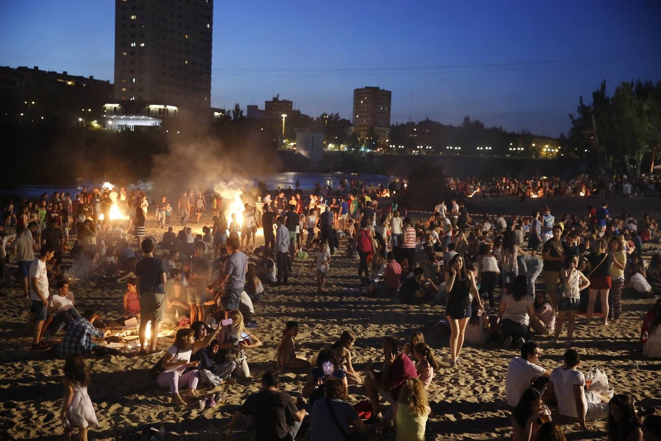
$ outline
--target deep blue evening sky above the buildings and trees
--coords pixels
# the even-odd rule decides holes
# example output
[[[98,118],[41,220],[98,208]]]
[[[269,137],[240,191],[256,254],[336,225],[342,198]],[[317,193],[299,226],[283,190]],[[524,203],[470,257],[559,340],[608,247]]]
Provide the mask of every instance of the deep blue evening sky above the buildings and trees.
[[[3,1],[0,42],[0,65],[112,81],[114,1]],[[493,65],[613,56],[625,57]],[[486,66],[446,67],[457,65]],[[602,79],[611,91],[633,78],[661,79],[661,6],[217,0],[212,71],[217,107],[263,108],[280,93],[312,116],[350,118],[353,89],[379,85],[393,92],[393,123],[410,115],[459,124],[470,114],[487,126],[557,136],[568,130],[579,95],[590,101]]]

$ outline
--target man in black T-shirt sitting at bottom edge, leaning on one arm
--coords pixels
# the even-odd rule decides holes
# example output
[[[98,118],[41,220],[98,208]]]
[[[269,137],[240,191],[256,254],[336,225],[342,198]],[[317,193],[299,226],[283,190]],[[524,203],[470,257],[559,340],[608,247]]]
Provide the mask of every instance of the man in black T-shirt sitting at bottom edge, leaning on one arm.
[[[305,407],[297,404],[291,395],[278,391],[280,376],[274,372],[265,372],[262,376],[262,390],[249,396],[239,407],[232,419],[225,426],[225,436],[231,437],[234,426],[244,416],[254,418],[256,440],[293,440],[296,438],[303,418]]]

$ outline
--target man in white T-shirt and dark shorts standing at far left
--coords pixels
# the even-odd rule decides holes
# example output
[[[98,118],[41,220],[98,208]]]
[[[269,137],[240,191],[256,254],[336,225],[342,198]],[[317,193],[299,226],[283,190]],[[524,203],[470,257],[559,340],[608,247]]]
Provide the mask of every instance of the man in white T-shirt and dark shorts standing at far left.
[[[34,259],[30,264],[30,300],[32,300],[32,308],[34,311],[30,312],[30,319],[28,329],[34,321],[34,341],[32,342],[32,349],[44,349],[48,345],[42,344],[41,330],[46,320],[48,313],[48,275],[46,274],[46,262],[53,259],[55,249],[50,245],[44,245],[39,253],[39,258]]]

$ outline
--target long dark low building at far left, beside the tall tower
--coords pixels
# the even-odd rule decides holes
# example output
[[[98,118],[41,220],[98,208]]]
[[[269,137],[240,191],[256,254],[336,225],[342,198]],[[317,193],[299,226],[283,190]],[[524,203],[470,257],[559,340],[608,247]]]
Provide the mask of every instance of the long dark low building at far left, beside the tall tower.
[[[0,107],[27,117],[66,113],[76,118],[100,114],[112,98],[112,83],[25,66],[0,67]]]

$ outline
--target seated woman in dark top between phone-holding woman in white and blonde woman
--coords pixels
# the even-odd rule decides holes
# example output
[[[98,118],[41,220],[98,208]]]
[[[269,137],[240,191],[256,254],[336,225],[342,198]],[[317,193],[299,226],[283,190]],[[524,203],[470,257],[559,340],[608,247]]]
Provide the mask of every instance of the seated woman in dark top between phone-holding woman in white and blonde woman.
[[[215,333],[201,321],[196,321],[190,325],[190,329],[194,331],[195,341],[204,342],[206,337],[210,334]],[[208,346],[199,348],[196,352],[193,352],[190,356],[190,361],[195,362],[199,361],[198,370],[200,370],[200,380],[203,383],[210,386],[218,386],[221,384],[236,384],[237,380],[229,380],[229,377],[234,372],[236,368],[235,362],[222,361],[220,364],[217,364],[214,361],[216,354],[218,353],[218,341],[212,340]]]

